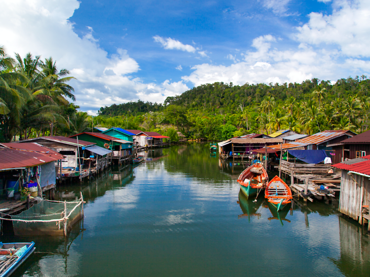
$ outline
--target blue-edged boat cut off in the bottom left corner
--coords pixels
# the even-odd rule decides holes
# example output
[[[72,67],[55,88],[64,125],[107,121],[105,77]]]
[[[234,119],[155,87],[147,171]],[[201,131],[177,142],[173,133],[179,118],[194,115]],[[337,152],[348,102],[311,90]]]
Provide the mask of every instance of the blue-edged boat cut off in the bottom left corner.
[[[0,242],[0,277],[10,276],[33,252],[35,242]]]

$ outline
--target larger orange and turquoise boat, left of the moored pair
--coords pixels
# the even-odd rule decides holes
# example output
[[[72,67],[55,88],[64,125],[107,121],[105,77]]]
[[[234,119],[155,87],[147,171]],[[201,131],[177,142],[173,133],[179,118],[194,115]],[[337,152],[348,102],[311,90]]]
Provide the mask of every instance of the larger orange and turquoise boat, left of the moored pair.
[[[246,198],[254,197],[266,187],[268,175],[260,162],[254,163],[240,173],[238,178],[240,189]]]

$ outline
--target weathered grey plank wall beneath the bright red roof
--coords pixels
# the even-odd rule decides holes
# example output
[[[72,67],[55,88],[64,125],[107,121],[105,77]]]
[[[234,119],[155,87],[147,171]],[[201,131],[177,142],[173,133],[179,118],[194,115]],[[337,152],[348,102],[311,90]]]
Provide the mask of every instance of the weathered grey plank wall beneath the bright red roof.
[[[339,212],[358,220],[361,224],[362,206],[370,204],[370,180],[369,177],[347,173],[347,170],[342,170]]]

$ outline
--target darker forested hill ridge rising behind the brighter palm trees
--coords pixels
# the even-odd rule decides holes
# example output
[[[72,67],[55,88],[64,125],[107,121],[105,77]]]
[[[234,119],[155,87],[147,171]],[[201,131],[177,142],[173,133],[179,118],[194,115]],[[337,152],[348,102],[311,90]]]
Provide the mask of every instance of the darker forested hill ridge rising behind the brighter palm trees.
[[[313,91],[326,91],[326,102],[335,98],[347,98],[349,95],[369,96],[370,80],[366,76],[339,79],[335,84],[319,79],[306,80],[302,83],[284,84],[244,84],[242,86],[215,82],[194,87],[183,94],[168,97],[164,104],[151,102],[128,102],[102,107],[99,111],[103,116],[143,115],[148,112],[164,111],[168,105],[183,106],[186,110],[208,111],[217,113],[233,113],[248,106],[260,105],[267,96],[274,97],[276,104],[283,103],[289,97],[296,102],[312,99]]]

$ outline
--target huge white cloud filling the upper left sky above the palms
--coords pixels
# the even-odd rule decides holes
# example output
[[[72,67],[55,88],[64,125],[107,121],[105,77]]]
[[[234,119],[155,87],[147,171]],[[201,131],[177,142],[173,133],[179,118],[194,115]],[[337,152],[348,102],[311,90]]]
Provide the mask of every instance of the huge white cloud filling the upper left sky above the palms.
[[[76,104],[84,111],[96,113],[102,106],[137,99],[163,102],[167,96],[188,89],[183,81],[148,84],[132,78],[140,67],[126,50],[117,49],[109,57],[91,27],[86,27],[82,38],[74,33],[69,18],[78,8],[78,0],[2,1],[0,43],[10,55],[31,52],[42,58],[51,56],[60,69],[69,69],[77,79],[70,82]]]

